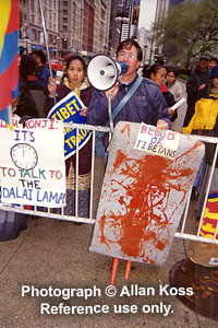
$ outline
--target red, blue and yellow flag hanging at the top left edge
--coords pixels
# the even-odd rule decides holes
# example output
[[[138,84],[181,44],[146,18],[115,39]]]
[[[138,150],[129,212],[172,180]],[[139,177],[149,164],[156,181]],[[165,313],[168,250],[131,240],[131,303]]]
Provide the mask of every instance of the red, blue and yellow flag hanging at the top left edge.
[[[0,0],[0,119],[10,125],[19,96],[19,0]]]

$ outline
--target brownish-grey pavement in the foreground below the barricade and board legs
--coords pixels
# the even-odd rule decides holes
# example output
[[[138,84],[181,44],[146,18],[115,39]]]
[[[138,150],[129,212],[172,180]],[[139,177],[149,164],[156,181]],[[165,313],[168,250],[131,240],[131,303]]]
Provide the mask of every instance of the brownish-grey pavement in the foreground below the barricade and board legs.
[[[95,213],[104,165],[96,156]],[[194,226],[194,210],[189,219]],[[120,260],[116,289],[107,289],[112,259],[88,250],[92,234],[92,224],[28,216],[16,239],[0,243],[0,328],[217,327],[160,293],[170,268],[186,257],[187,241],[174,238],[162,267],[134,262],[128,281]]]

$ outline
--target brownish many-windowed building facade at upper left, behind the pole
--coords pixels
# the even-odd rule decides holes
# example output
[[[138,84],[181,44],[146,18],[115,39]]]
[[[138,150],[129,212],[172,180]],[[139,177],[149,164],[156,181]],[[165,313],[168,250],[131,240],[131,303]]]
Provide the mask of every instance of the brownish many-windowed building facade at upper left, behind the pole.
[[[51,58],[65,54],[90,57],[109,49],[111,0],[20,0],[20,47],[25,52],[48,51]],[[43,21],[45,21],[46,38]]]

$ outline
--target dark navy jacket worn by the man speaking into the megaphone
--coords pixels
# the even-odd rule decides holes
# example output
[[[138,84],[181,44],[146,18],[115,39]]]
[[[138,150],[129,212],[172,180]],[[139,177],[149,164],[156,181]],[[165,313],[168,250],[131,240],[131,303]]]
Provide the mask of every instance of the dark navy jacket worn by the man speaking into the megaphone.
[[[112,110],[130,90],[135,79],[130,84],[119,84],[119,92],[111,102]],[[156,126],[158,119],[164,119],[171,126],[168,107],[159,86],[148,79],[143,79],[135,93],[113,119],[113,124],[116,126],[118,121],[123,120]],[[94,89],[88,106],[87,122],[94,126],[106,126],[108,120],[108,98],[105,92]]]

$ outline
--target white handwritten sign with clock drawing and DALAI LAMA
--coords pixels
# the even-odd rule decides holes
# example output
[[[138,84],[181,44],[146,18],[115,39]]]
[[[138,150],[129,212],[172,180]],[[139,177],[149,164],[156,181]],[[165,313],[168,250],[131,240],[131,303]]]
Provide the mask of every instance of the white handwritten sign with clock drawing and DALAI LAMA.
[[[0,120],[1,202],[58,208],[65,204],[63,124],[13,118],[14,129]]]

